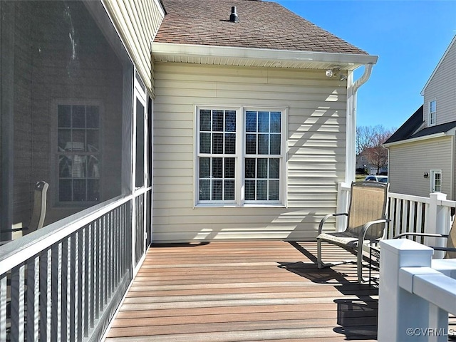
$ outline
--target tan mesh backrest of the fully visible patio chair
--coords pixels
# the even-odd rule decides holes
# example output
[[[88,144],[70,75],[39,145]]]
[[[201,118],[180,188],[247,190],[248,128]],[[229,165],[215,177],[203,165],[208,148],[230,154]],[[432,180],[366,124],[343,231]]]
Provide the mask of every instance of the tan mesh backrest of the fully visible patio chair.
[[[358,234],[367,222],[386,218],[389,183],[353,182],[348,209],[347,232]],[[375,224],[368,230],[366,239],[383,237],[385,224]]]

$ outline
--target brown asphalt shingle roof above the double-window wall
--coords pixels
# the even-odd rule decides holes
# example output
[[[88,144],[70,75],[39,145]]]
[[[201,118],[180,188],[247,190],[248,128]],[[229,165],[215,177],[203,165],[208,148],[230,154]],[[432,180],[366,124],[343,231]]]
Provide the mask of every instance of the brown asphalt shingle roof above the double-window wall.
[[[167,14],[155,37],[159,43],[368,54],[274,2],[162,2]],[[237,7],[239,23],[229,21],[232,6]]]

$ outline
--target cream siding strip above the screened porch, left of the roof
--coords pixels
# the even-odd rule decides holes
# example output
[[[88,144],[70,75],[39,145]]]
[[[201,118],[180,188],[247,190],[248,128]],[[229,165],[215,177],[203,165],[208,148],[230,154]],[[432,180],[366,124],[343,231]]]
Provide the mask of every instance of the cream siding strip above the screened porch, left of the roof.
[[[150,46],[165,12],[158,0],[103,0],[147,89],[154,93]]]

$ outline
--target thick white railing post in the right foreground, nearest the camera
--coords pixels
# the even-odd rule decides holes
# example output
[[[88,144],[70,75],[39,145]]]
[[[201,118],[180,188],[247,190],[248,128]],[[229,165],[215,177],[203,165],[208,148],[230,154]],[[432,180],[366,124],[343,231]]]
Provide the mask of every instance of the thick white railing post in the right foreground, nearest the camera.
[[[408,329],[429,326],[429,303],[400,288],[399,269],[430,267],[433,249],[409,239],[393,239],[381,241],[380,250],[378,341],[424,341],[423,336],[408,335]]]

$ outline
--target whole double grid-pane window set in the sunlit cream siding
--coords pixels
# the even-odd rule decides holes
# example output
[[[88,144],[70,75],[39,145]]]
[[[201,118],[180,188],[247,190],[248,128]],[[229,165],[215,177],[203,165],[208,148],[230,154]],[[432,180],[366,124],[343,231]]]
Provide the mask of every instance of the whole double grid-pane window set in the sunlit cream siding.
[[[197,204],[282,204],[284,110],[197,109]]]

